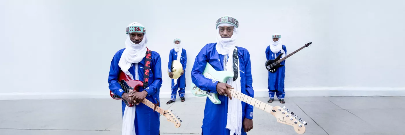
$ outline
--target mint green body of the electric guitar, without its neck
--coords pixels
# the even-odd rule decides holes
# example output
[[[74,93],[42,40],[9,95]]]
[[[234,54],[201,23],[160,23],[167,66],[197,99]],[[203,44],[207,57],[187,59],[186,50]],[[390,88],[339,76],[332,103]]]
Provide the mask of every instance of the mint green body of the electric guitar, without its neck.
[[[205,78],[209,78],[213,81],[224,82],[224,83],[226,83],[226,81],[229,78],[233,78],[233,72],[217,71],[209,63],[207,63],[207,65],[205,66],[203,75]],[[212,103],[217,104],[217,105],[221,104],[220,99],[218,99],[217,93],[210,93],[208,91],[203,91],[200,88],[198,88],[196,85],[194,85],[192,87],[191,93],[193,93],[193,95],[198,96],[198,97],[207,96],[209,98],[209,100],[211,100]]]

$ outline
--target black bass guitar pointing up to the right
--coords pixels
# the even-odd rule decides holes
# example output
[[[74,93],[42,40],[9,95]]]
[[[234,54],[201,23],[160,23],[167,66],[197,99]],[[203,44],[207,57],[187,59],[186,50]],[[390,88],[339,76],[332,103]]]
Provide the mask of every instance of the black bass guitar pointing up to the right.
[[[281,53],[280,55],[277,56],[277,58],[272,59],[272,60],[267,60],[266,63],[265,63],[266,64],[266,69],[269,70],[269,72],[272,72],[272,73],[276,72],[277,68],[284,66],[284,65],[280,64],[281,61],[286,60],[288,57],[290,57],[294,53],[297,53],[298,51],[301,51],[302,49],[304,49],[305,47],[308,47],[311,44],[312,44],[312,42],[306,42],[304,46],[302,46],[300,49],[290,53],[286,57],[281,58],[281,55],[283,55],[283,53]]]

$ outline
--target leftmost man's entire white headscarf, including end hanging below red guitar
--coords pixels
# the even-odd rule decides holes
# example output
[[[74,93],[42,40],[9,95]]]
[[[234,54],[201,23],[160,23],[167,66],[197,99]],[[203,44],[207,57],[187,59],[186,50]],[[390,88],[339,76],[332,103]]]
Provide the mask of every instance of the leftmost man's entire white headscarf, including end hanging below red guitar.
[[[131,23],[128,27],[131,26],[140,26],[144,27],[141,23]],[[118,66],[121,70],[127,74],[132,80],[134,77],[128,71],[131,67],[132,63],[139,63],[146,55],[146,43],[148,42],[146,38],[146,34],[143,33],[143,39],[139,44],[135,44],[131,41],[131,38],[127,34],[127,39],[125,40],[125,47],[126,49],[122,52],[121,59],[119,59]],[[138,71],[135,71],[138,72]],[[122,135],[136,135],[135,133],[135,112],[136,112],[136,105],[129,107],[125,106],[124,116],[122,118]]]

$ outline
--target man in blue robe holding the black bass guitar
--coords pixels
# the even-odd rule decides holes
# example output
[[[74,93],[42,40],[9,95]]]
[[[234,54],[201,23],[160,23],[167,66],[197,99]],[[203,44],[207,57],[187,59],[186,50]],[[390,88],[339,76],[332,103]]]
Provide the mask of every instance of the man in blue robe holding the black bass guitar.
[[[287,55],[287,49],[286,46],[281,44],[281,35],[280,34],[273,34],[271,36],[273,38],[272,43],[267,46],[266,49],[266,59],[271,60],[277,58],[277,56],[281,55],[282,57],[285,57]],[[272,103],[274,100],[274,95],[277,96],[279,99],[280,103],[286,103],[284,101],[284,77],[286,73],[286,66],[285,66],[286,60],[281,62],[281,65],[284,65],[282,67],[277,68],[276,72],[272,73],[269,72],[269,80],[268,80],[268,87],[269,89],[269,101],[268,103]]]

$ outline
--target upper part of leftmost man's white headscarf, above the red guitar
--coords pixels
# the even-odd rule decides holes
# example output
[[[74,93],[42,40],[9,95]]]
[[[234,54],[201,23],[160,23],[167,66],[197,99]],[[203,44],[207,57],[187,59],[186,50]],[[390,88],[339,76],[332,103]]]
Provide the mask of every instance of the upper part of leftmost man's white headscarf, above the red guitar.
[[[128,25],[128,27],[130,26],[144,27],[141,23],[136,22]],[[128,69],[131,67],[132,63],[139,63],[145,57],[147,51],[147,42],[148,40],[145,33],[143,34],[143,39],[139,44],[135,44],[134,42],[132,42],[131,38],[129,37],[129,33],[127,34],[127,39],[125,40],[126,49],[124,50],[124,52],[122,52],[121,59],[119,59],[118,62],[118,66],[125,74],[130,76],[131,79],[134,78],[132,74],[128,72]]]

